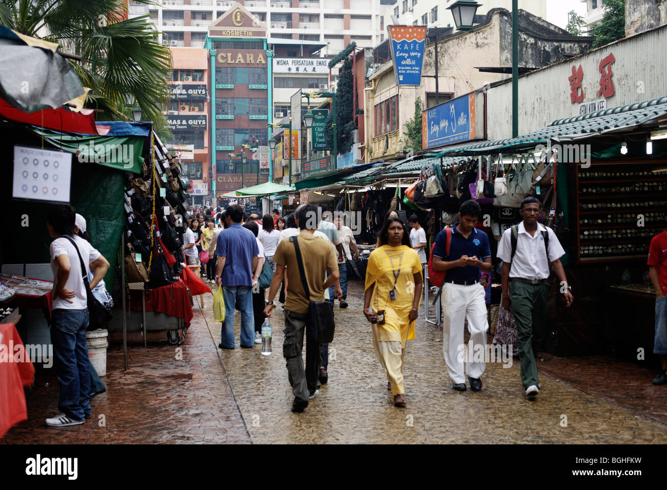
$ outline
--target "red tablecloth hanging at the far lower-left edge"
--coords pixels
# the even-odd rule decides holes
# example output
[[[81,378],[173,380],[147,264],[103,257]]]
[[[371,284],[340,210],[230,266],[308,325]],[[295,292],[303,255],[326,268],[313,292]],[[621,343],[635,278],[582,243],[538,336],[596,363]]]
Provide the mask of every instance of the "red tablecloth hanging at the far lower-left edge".
[[[23,349],[20,358],[19,349]],[[22,362],[15,362],[15,353]],[[13,323],[0,323],[0,438],[12,425],[27,420],[23,387],[30,386],[34,377],[35,367],[25,355],[16,327]]]

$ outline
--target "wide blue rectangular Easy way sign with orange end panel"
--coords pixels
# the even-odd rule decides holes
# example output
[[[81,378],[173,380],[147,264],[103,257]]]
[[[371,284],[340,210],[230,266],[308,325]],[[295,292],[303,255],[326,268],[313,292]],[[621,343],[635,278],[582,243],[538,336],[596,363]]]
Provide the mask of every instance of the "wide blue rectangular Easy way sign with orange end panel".
[[[482,91],[462,95],[422,111],[422,149],[484,137]]]

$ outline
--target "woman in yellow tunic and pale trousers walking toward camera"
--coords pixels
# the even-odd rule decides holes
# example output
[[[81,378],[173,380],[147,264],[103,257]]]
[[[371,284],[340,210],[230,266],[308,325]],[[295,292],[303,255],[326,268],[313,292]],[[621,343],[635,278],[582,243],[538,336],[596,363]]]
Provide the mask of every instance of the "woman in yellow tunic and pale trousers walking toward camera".
[[[380,231],[382,246],[368,259],[364,315],[371,322],[373,347],[387,371],[394,406],[405,407],[403,357],[406,341],[415,338],[414,321],[422,295],[422,263],[410,247],[410,235],[398,217]],[[372,306],[373,311],[369,307]]]

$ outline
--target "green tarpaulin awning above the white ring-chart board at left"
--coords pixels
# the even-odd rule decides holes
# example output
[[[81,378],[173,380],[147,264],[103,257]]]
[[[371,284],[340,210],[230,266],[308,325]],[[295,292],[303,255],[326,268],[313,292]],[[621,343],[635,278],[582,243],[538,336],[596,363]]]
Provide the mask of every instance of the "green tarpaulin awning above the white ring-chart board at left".
[[[141,173],[144,141],[141,136],[66,135],[48,129],[32,129],[51,145],[75,153],[72,159],[81,163],[97,163],[124,172]]]

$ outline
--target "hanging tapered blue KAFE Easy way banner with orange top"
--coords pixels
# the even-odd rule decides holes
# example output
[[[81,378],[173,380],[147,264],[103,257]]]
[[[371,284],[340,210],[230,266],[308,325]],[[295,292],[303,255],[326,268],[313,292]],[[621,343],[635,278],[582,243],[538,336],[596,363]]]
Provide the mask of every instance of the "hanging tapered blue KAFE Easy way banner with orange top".
[[[390,25],[388,30],[398,85],[420,85],[426,27]]]

